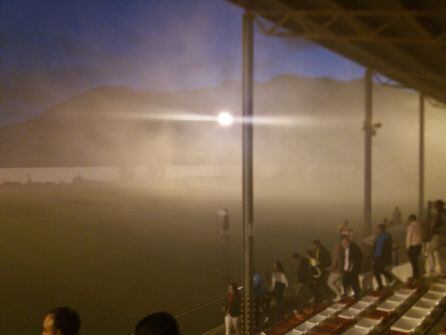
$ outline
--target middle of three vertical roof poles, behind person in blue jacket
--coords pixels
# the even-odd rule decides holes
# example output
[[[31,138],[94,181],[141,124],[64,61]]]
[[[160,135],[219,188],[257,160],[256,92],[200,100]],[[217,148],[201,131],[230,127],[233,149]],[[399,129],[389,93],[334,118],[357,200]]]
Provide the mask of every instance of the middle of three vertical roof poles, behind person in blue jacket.
[[[372,71],[365,72],[365,121],[364,121],[364,234],[372,232],[372,136],[373,136],[373,78]]]

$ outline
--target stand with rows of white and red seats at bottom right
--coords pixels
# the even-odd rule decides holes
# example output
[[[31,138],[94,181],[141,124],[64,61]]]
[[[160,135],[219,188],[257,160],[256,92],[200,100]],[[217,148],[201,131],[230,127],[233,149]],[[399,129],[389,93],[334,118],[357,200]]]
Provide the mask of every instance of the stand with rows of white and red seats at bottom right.
[[[437,323],[446,322],[442,320],[445,311],[446,280],[429,279],[370,291],[357,302],[344,299],[318,306],[303,319],[290,317],[265,334],[428,334]],[[444,324],[440,326],[436,334],[446,330]]]

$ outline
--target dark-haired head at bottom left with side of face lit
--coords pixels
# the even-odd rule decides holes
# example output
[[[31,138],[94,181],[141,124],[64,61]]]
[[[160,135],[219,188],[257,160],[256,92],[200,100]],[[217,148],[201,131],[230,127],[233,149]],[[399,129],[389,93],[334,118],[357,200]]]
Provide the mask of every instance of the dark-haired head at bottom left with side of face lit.
[[[42,328],[42,335],[78,335],[81,319],[70,307],[57,307],[45,315]]]

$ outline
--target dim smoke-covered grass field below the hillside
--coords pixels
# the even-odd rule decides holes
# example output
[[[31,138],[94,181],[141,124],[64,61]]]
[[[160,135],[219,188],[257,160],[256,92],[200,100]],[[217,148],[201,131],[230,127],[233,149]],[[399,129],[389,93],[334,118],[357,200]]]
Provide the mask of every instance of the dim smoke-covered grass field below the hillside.
[[[1,188],[0,333],[39,333],[46,310],[69,305],[80,312],[84,335],[127,334],[150,312],[178,314],[222,295],[239,278],[241,203],[239,190],[220,190]],[[290,276],[291,253],[316,236],[331,245],[339,223],[333,211],[347,211],[267,197],[256,206],[256,266],[269,270],[280,259]],[[223,207],[231,213],[229,243],[219,235]],[[217,325],[219,307],[180,318],[183,333]]]

